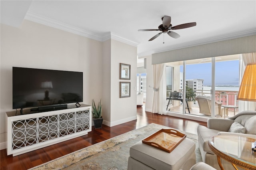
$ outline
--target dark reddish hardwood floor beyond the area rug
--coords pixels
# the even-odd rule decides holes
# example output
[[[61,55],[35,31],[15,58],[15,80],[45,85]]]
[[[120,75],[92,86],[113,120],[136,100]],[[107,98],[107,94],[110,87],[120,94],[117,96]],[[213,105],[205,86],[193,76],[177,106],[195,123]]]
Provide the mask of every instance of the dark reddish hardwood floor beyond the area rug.
[[[0,169],[1,170],[26,170],[42,163],[48,162],[60,156],[69,154],[76,150],[90,146],[92,144],[118,136],[130,130],[146,126],[150,123],[156,123],[167,127],[177,128],[186,132],[196,134],[198,125],[207,126],[206,122],[192,121],[166,115],[158,115],[145,112],[143,107],[137,108],[137,120],[108,127],[102,125],[101,129],[94,129],[78,138],[65,142],[47,146],[18,156],[7,156],[6,149],[0,151]]]

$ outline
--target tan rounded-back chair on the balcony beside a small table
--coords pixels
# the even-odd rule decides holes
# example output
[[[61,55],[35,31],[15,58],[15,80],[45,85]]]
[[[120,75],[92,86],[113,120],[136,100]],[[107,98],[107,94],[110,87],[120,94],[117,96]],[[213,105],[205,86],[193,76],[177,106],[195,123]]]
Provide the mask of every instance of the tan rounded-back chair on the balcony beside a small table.
[[[206,96],[197,96],[196,101],[199,106],[199,113],[210,116],[211,115],[211,106],[212,106],[211,98],[206,97]],[[217,102],[217,101],[215,102],[215,111],[216,111],[217,115],[222,116],[221,105],[222,105],[222,103]]]

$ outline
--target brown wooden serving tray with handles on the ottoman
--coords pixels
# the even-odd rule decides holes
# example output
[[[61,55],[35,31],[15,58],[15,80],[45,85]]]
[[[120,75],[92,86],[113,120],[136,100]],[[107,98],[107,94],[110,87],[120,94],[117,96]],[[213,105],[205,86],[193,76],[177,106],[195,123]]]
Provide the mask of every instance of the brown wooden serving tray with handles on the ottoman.
[[[186,138],[186,134],[175,129],[161,129],[142,140],[142,143],[170,153],[184,138]]]

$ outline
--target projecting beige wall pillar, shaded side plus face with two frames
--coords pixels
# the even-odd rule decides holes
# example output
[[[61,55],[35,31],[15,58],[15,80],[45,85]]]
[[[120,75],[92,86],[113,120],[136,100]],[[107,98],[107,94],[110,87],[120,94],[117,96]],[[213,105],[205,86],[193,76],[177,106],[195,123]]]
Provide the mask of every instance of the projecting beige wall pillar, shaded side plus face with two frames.
[[[136,69],[137,47],[116,40],[103,42],[102,116],[103,124],[115,126],[137,119]],[[131,65],[130,97],[120,98],[120,63]]]

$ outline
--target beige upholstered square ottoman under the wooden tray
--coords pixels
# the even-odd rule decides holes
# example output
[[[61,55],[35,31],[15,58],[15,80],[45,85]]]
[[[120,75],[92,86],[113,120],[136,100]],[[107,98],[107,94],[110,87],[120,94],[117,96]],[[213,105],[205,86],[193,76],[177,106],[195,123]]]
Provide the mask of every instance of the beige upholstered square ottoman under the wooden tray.
[[[196,164],[196,145],[185,138],[171,153],[154,148],[142,141],[130,147],[128,170],[189,170]]]

